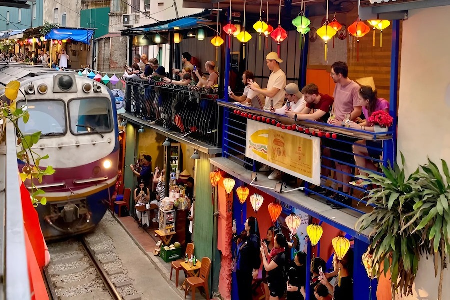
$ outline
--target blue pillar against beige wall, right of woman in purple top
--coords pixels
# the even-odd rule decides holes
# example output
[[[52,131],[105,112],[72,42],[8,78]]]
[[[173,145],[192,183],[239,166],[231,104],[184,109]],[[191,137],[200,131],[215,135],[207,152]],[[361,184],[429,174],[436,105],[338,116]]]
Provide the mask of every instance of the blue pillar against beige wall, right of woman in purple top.
[[[390,96],[389,96],[389,114],[393,117],[392,141],[383,143],[383,157],[386,162],[393,164],[397,160],[397,100],[398,100],[398,57],[400,46],[400,20],[392,21],[392,47],[390,51]],[[387,159],[386,159],[387,158]]]

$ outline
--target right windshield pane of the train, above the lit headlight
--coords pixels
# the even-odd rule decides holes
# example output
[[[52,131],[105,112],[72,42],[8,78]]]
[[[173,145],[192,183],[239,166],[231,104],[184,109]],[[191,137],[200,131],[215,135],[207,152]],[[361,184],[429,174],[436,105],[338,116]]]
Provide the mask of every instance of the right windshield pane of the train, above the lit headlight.
[[[73,134],[112,131],[114,122],[110,99],[73,99],[68,103],[68,109]]]

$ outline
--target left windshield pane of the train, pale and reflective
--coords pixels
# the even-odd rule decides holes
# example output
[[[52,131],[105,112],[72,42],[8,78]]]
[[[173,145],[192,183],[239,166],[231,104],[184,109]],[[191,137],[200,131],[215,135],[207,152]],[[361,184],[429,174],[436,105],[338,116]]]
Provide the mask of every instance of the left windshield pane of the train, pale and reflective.
[[[26,124],[19,119],[19,128],[23,134],[41,131],[42,136],[64,135],[67,132],[65,103],[61,100],[20,101],[17,107],[26,105],[29,120]]]

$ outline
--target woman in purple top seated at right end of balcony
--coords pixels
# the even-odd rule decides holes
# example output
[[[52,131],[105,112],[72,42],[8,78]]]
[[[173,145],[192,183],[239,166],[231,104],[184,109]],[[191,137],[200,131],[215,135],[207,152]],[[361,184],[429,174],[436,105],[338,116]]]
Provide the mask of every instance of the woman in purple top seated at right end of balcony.
[[[373,124],[368,119],[373,112],[378,110],[384,110],[389,112],[389,102],[386,99],[378,98],[376,89],[372,89],[371,86],[363,85],[359,90],[359,104],[362,106],[362,112],[365,116],[365,121],[362,123],[348,122],[347,127],[364,130],[369,132],[375,132]],[[370,147],[367,148],[367,147]],[[379,149],[379,150],[378,150]],[[374,140],[358,140],[353,144],[353,154],[356,165],[359,167],[359,174],[367,176],[365,170],[376,171],[378,168],[373,163],[373,160],[365,157],[370,156],[372,158],[379,159],[382,153],[382,142]],[[365,156],[365,157],[364,157]],[[359,186],[362,183],[362,179],[349,182],[351,185]]]

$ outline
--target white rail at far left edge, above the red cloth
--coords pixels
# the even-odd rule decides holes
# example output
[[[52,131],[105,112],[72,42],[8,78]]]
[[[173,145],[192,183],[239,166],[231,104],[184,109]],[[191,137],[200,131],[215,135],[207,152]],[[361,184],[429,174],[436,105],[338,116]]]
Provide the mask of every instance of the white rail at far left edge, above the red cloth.
[[[20,201],[20,186],[16,154],[16,135],[14,125],[6,124],[5,151],[0,153],[0,165],[5,167],[0,173],[0,194],[5,196],[1,201],[1,217],[4,217],[5,227],[2,234],[5,239],[1,250],[1,265],[3,275],[3,292],[0,298],[14,300],[29,300],[31,298],[28,278],[28,264],[26,259],[25,232],[23,226],[23,211]],[[4,176],[4,177],[3,177]]]

